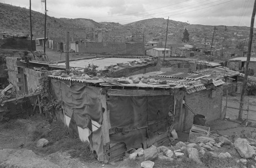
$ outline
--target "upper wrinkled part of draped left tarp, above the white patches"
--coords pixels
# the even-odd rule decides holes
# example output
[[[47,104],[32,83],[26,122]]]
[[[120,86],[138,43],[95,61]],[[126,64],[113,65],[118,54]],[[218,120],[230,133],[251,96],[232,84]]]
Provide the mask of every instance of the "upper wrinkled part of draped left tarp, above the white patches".
[[[91,86],[69,86],[58,80],[51,80],[53,96],[57,100],[63,101],[65,109],[68,109],[66,115],[75,119],[77,126],[87,127],[87,114],[93,121],[101,125],[102,109],[100,103],[100,88]]]

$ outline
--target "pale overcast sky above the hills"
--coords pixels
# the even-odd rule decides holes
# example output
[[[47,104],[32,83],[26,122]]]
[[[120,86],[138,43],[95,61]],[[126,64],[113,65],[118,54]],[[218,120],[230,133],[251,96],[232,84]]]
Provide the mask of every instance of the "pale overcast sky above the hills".
[[[31,0],[32,10],[44,13],[45,3]],[[165,18],[201,25],[250,26],[253,0],[46,0],[48,15],[130,23]],[[29,0],[0,0],[29,7]]]

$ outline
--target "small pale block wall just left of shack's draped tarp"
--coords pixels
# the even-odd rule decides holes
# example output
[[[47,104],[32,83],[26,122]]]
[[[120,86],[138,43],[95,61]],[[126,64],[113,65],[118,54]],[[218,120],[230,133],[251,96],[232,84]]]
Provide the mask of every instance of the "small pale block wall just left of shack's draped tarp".
[[[40,86],[42,73],[30,68],[24,68],[24,74],[27,77],[28,93],[32,93]]]

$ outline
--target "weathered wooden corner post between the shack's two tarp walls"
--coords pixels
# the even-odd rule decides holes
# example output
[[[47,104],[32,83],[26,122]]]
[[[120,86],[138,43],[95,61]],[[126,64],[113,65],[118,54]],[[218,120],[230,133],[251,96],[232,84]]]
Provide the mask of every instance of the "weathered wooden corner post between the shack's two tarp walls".
[[[109,156],[107,152],[110,149],[110,135],[109,135],[110,121],[108,119],[108,111],[106,108],[106,94],[100,94],[100,101],[101,101],[101,107],[102,107],[101,131],[102,131],[102,141],[103,141],[104,162],[108,163]]]

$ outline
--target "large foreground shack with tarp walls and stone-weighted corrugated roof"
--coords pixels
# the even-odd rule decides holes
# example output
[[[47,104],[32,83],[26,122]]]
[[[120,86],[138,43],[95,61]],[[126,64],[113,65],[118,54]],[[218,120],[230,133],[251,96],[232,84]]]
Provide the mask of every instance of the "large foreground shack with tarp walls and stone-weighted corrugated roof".
[[[207,121],[220,117],[222,80],[214,75],[185,76],[188,79],[167,74],[150,78],[91,78],[86,74],[49,78],[54,97],[63,102],[63,122],[71,135],[89,141],[99,160],[113,161],[133,148],[168,142],[173,128],[183,131],[190,127],[193,117],[183,100]],[[197,104],[201,108],[196,108]]]

